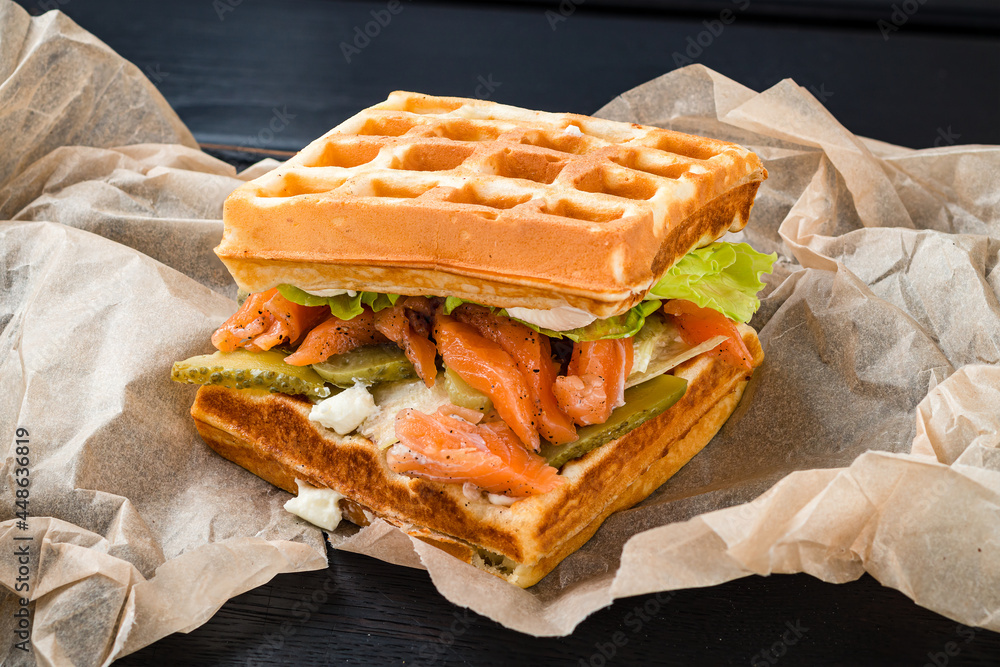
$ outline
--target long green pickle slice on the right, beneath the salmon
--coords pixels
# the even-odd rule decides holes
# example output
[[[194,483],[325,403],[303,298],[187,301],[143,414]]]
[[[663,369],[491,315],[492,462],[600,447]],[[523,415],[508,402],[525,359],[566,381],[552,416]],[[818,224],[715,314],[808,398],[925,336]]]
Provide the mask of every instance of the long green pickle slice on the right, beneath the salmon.
[[[542,444],[541,455],[550,466],[560,468],[601,445],[620,438],[644,421],[662,414],[687,390],[687,380],[660,375],[625,390],[625,405],[611,413],[608,421],[577,429],[580,439],[566,445]]]

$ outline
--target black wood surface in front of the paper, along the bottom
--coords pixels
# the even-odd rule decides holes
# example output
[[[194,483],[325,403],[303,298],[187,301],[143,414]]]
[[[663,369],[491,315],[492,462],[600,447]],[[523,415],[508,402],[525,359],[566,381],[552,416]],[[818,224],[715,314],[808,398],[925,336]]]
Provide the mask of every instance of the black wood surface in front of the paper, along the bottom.
[[[444,601],[427,576],[351,553],[230,601],[120,665],[996,665],[1000,635],[865,576],[751,577],[617,601],[570,637],[536,639]]]

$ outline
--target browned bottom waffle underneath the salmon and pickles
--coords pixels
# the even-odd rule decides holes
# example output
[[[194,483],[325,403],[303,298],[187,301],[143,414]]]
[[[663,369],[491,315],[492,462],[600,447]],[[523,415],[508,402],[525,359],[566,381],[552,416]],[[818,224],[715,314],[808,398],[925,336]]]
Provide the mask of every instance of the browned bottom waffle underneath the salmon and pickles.
[[[741,326],[754,357],[763,351]],[[631,507],[702,450],[736,409],[750,371],[704,353],[675,369],[688,381],[673,407],[621,438],[570,461],[549,493],[509,507],[470,499],[461,484],[392,472],[385,451],[309,421],[304,399],[205,386],[191,408],[215,451],[290,493],[295,479],[345,496],[345,517],[376,516],[406,533],[521,587],[537,583],[579,549],[612,513]]]

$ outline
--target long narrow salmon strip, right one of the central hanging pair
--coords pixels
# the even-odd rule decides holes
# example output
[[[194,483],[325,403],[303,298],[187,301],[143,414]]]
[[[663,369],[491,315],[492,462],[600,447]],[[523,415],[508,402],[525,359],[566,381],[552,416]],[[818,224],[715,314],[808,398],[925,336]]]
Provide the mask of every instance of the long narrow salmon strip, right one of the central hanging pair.
[[[538,418],[537,430],[543,438],[552,444],[562,445],[579,437],[573,420],[559,409],[552,393],[558,365],[552,359],[548,336],[473,304],[459,306],[453,315],[459,321],[472,325],[482,336],[513,357],[531,392]]]

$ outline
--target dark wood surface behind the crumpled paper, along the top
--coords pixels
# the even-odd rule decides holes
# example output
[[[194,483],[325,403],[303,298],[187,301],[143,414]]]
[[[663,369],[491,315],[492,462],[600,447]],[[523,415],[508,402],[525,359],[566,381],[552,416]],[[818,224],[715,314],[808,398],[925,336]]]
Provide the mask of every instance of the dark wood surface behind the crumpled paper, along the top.
[[[384,20],[388,0],[24,5],[36,13],[62,8],[145,71],[199,141],[215,144],[297,150],[395,89],[591,113],[687,60],[756,90],[793,78],[848,129],[883,141],[1000,143],[995,0],[993,11],[978,13],[979,0],[839,3],[866,8],[850,21],[830,15],[832,0],[794,3],[813,7],[812,21],[767,20],[774,12],[760,8],[775,3],[759,0],[713,1],[700,13],[692,2],[621,13],[614,3],[594,8],[585,0],[400,2],[399,13],[347,56],[341,44],[354,48],[372,12]],[[917,9],[894,18],[901,3]],[[722,6],[732,8],[728,25]],[[932,20],[944,7],[964,17],[962,29]],[[898,30],[884,35],[878,20]],[[717,35],[705,32],[706,21]]]

